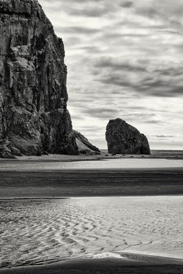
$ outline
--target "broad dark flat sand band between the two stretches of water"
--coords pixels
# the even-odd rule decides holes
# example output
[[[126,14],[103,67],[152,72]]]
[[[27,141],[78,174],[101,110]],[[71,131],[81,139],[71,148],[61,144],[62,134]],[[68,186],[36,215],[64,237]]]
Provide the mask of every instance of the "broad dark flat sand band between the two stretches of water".
[[[0,171],[0,198],[182,195],[183,168]]]

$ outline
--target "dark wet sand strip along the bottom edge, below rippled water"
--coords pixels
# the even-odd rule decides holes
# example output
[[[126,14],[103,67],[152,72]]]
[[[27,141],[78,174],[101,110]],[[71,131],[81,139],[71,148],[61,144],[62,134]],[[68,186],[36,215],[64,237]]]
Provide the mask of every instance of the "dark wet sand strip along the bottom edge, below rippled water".
[[[118,256],[117,256],[118,255]],[[122,256],[122,257],[121,257]],[[2,269],[0,274],[182,274],[183,261],[139,253],[110,253],[108,258],[75,258],[42,266]]]

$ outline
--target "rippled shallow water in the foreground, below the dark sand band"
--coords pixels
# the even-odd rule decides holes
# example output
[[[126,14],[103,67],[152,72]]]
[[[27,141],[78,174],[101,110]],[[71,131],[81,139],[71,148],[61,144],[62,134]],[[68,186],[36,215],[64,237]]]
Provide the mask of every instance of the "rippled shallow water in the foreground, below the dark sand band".
[[[183,196],[0,200],[1,267],[103,251],[183,258]]]

